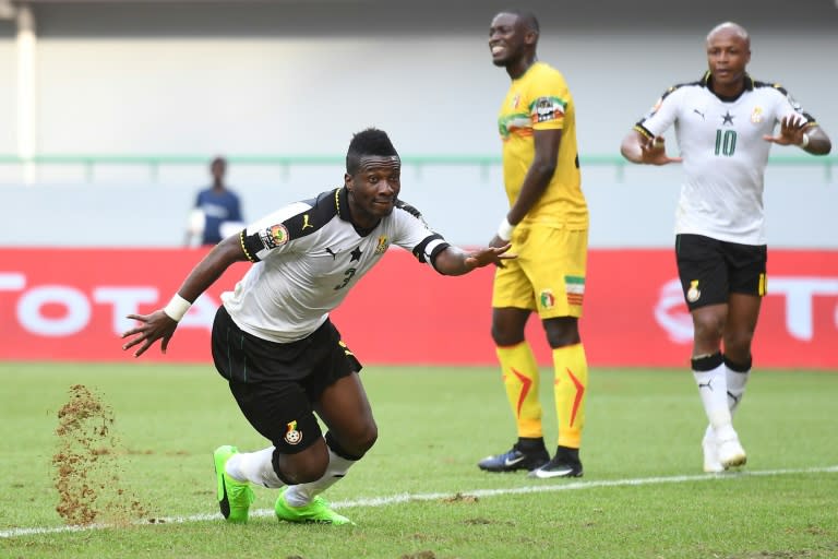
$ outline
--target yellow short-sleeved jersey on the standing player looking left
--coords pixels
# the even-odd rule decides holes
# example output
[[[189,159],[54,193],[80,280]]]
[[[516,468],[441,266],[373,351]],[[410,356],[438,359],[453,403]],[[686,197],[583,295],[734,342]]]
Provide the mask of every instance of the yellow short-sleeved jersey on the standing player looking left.
[[[498,129],[503,140],[503,179],[510,205],[517,200],[536,155],[534,131],[562,130],[553,178],[522,225],[544,223],[587,228],[588,206],[582,192],[576,146],[576,108],[561,72],[536,62],[513,80],[498,115]]]

